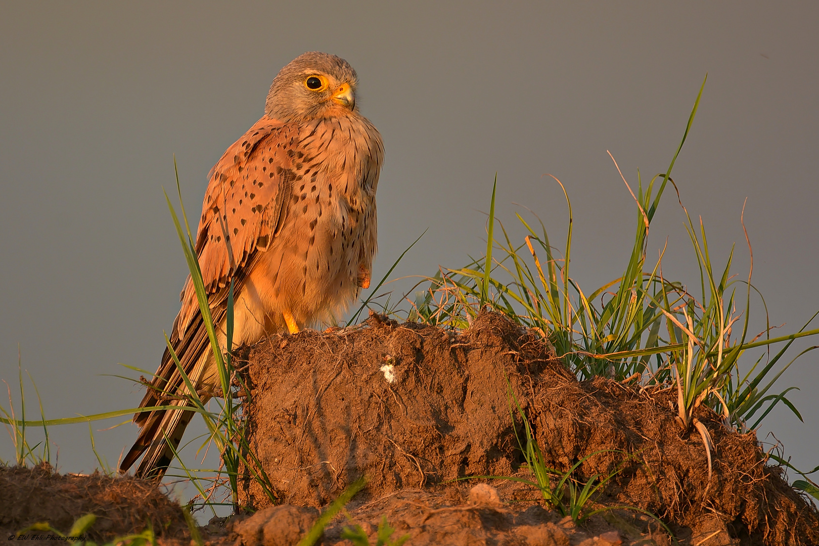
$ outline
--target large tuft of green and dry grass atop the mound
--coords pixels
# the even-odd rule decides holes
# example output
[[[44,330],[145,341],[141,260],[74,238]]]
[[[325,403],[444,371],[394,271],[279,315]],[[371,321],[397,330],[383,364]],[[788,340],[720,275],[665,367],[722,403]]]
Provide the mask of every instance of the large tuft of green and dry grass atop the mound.
[[[501,236],[494,237],[495,180],[487,224],[486,255],[472,259],[464,268],[441,268],[433,277],[426,278],[429,287],[411,303],[408,318],[460,329],[467,327],[477,313],[489,305],[522,326],[540,332],[581,381],[608,377],[617,381],[638,379],[644,387],[674,386],[678,395],[681,432],[691,428],[698,431],[709,458],[710,435],[695,417],[697,408],[702,405],[721,414],[727,426],[740,431],[758,426],[780,403],[802,419],[787,398],[795,387],[779,394],[771,394],[770,390],[796,359],[817,347],[803,350],[776,375],[773,375],[773,369],[795,339],[819,333],[819,329],[808,330],[817,315],[799,332],[771,337],[768,323],[762,334],[749,340],[751,292],[758,291],[751,282],[753,250],[747,232],[751,267],[747,280],[739,280],[731,273],[734,250],[731,249],[724,267],[717,268],[708,251],[702,220],[695,225],[671,178],[694,123],[704,86],[705,80],[699,88],[681,142],[663,174],[655,175],[644,187],[638,171],[635,192],[614,162],[636,203],[634,243],[620,277],[587,292],[570,275],[572,203],[566,187],[554,177],[568,205],[563,256],[552,246],[544,224],[538,219],[540,231],[536,231],[532,227],[534,224],[521,214],[517,214],[517,218],[526,233],[523,241],[513,242],[500,221]],[[681,209],[686,214],[686,232],[699,265],[698,297],[681,282],[664,276],[664,248],[655,264],[649,265],[646,259],[649,228],[668,183],[676,189]],[[736,292],[740,285],[744,292],[741,299]],[[762,303],[764,305],[764,300]],[[763,354],[749,372],[740,374],[739,360],[746,350],[776,344],[784,346],[773,358],[762,363]]]

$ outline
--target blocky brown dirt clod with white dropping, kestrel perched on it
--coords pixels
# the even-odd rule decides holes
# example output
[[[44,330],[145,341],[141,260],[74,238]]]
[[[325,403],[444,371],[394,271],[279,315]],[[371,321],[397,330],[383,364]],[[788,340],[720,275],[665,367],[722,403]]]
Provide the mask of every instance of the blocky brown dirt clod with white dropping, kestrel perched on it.
[[[280,500],[322,506],[362,474],[378,497],[515,472],[506,376],[517,392],[544,368],[570,376],[534,335],[486,318],[461,336],[371,318],[336,335],[256,345],[247,368],[251,451]],[[243,502],[268,505],[255,482],[245,487]]]

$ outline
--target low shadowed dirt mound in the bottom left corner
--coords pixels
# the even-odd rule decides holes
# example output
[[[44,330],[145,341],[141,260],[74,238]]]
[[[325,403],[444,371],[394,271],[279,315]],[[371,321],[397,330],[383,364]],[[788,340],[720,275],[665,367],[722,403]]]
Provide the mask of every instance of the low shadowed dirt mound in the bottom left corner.
[[[97,543],[141,532],[148,525],[156,535],[169,538],[182,537],[188,530],[182,508],[156,483],[98,472],[61,475],[48,463],[34,468],[0,465],[0,536],[16,535],[39,522],[65,534],[89,513],[97,521],[87,538]]]

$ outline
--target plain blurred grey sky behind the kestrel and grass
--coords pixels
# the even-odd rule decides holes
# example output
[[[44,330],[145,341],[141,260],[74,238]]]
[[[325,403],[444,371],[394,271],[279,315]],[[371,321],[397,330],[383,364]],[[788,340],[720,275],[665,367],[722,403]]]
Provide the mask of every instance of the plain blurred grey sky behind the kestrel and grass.
[[[743,277],[748,198],[753,282],[771,323],[795,331],[819,309],[817,16],[815,2],[2,2],[0,378],[16,386],[19,344],[47,417],[138,404],[99,374],[153,370],[179,309],[186,268],[161,190],[173,155],[196,219],[208,169],[263,113],[279,68],[310,50],[351,62],[384,139],[373,278],[425,228],[396,277],[480,255],[495,171],[497,216],[519,233],[513,203],[527,205],[562,247],[565,202],[541,176],[558,177],[573,277],[587,289],[618,277],[636,216],[606,151],[632,187],[638,168],[666,169],[708,72],[673,178],[713,258],[737,243]],[[663,272],[693,285],[683,219],[667,192],[649,257],[667,237]],[[802,388],[790,397],[805,424],[781,407],[759,438],[775,431],[814,467],[817,355],[785,386]],[[50,432],[63,471],[97,465],[84,426]],[[97,449],[115,463],[135,435],[96,432]]]

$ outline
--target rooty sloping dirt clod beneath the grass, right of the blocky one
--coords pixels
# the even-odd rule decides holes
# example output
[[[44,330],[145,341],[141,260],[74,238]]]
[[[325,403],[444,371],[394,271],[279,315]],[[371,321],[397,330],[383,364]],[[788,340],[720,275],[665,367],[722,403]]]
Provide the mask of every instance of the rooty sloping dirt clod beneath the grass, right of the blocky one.
[[[586,454],[586,476],[615,476],[609,494],[693,530],[695,544],[708,536],[736,544],[819,544],[819,514],[768,467],[753,432],[726,429],[700,408],[697,417],[714,442],[713,479],[699,434],[681,433],[670,388],[643,394],[616,381],[585,383],[541,377],[532,413],[548,465],[567,468]],[[722,542],[730,544],[730,542]]]

